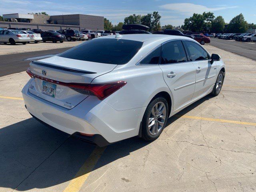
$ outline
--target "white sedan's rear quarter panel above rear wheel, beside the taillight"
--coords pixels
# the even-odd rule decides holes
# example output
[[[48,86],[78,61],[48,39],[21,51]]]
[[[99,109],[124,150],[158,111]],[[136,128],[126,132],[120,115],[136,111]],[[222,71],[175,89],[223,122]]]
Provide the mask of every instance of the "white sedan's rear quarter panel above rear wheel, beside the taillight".
[[[107,80],[107,81],[106,81]],[[118,111],[148,106],[159,92],[170,93],[158,65],[138,65],[113,70],[95,78],[92,83],[126,81],[127,84],[104,99],[104,102]]]

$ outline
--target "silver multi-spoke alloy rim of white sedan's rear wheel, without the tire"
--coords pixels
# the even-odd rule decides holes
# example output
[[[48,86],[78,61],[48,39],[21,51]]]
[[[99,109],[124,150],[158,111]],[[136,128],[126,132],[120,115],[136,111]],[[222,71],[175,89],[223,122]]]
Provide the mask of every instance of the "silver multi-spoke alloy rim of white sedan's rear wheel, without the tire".
[[[156,135],[164,126],[166,119],[166,106],[163,102],[154,105],[148,118],[148,131],[151,135]]]

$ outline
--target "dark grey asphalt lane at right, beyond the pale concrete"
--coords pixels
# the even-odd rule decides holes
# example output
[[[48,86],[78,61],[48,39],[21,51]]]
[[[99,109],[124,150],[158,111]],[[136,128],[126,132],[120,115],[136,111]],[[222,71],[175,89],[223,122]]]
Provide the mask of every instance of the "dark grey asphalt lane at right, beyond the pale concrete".
[[[224,40],[218,38],[210,39],[210,45],[212,46],[256,60],[256,42],[240,42],[235,40]]]

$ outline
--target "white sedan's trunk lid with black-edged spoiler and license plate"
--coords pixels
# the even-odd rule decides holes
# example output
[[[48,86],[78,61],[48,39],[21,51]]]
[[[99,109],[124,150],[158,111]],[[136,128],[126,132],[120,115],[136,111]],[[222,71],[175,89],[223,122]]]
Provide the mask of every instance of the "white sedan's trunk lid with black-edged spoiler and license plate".
[[[64,108],[74,108],[88,94],[58,82],[90,84],[94,78],[112,71],[116,65],[74,60],[53,56],[30,62],[36,75],[29,86],[30,93]]]

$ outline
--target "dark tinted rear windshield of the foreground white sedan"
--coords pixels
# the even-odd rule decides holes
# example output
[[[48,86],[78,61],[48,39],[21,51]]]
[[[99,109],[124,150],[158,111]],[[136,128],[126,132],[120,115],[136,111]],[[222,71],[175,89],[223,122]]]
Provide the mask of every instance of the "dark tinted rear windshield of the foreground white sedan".
[[[123,39],[94,39],[58,54],[60,57],[122,65],[140,50],[143,42]]]

